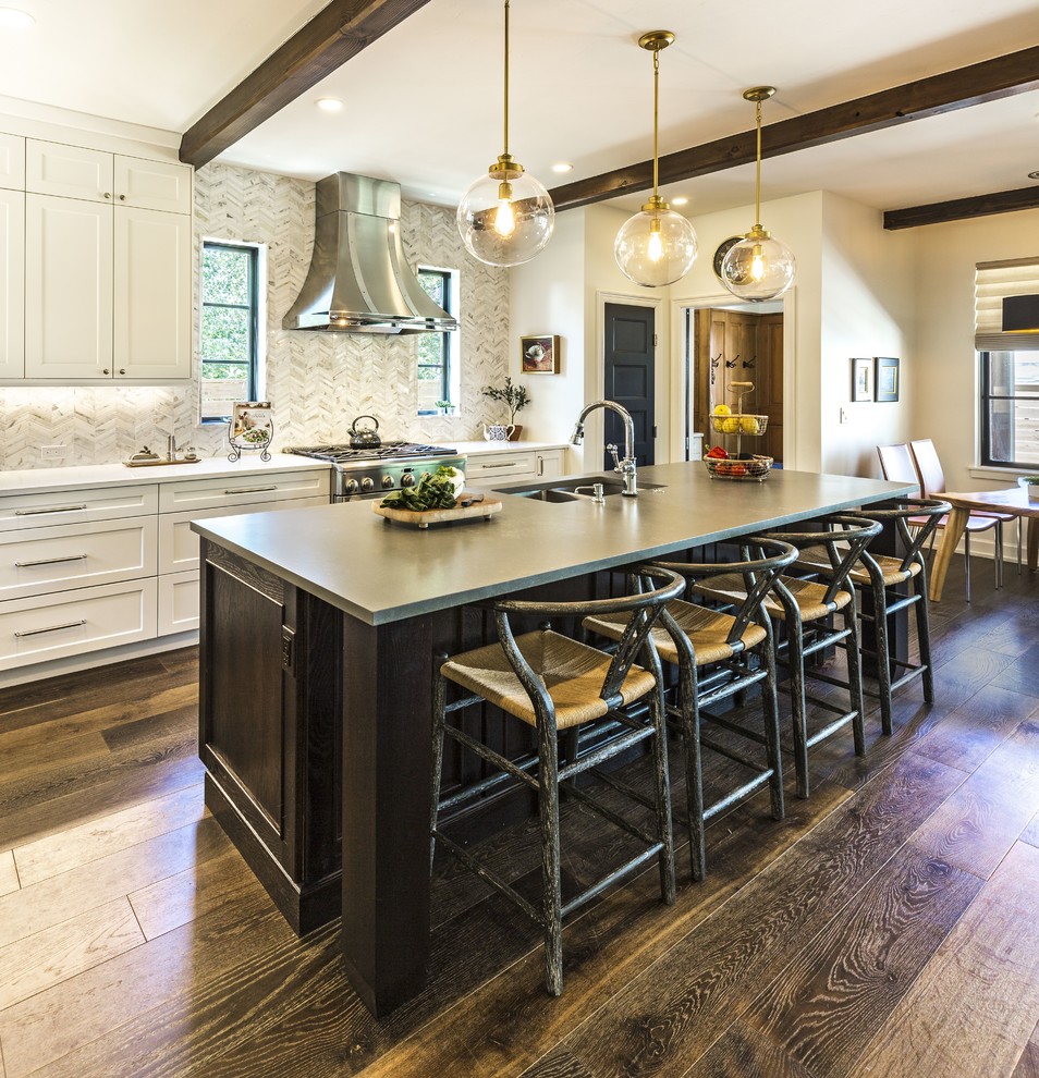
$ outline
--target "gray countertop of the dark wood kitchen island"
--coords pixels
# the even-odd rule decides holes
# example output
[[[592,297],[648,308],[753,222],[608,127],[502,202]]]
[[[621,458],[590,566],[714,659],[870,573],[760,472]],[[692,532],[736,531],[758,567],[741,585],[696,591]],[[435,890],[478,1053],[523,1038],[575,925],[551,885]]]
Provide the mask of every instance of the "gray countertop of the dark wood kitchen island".
[[[697,543],[905,494],[905,483],[777,470],[712,480],[702,464],[641,468],[638,498],[548,503],[500,495],[489,520],[418,530],[375,500],[195,522],[203,537],[369,625],[414,617]]]

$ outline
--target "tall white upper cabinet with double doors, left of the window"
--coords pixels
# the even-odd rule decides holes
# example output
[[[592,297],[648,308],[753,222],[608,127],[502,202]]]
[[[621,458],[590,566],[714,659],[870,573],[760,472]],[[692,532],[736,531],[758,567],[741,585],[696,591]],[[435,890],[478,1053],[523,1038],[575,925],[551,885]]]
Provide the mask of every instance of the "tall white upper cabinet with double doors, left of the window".
[[[23,142],[24,365],[0,378],[190,378],[191,168]]]

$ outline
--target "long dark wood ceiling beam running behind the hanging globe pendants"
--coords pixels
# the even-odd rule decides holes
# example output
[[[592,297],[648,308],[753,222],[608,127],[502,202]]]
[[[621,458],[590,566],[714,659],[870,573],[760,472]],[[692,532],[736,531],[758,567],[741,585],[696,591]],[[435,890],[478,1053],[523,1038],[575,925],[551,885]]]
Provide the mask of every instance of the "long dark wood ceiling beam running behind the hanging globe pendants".
[[[761,139],[761,156],[793,154],[868,131],[881,131],[912,120],[966,109],[971,105],[998,101],[1037,87],[1039,46],[769,124]],[[755,158],[755,132],[745,131],[668,154],[660,158],[660,183],[690,180],[748,164]],[[550,194],[557,209],[572,209],[618,195],[647,191],[652,183],[652,161],[641,161],[553,187]]]

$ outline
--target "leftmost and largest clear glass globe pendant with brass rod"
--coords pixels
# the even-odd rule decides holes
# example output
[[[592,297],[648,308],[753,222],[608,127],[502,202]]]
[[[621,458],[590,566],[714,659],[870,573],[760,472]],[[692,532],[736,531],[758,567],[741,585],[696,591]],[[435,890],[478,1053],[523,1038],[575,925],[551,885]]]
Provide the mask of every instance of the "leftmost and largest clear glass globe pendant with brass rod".
[[[463,195],[456,219],[466,249],[488,266],[518,266],[549,242],[555,207],[509,152],[509,2],[505,0],[504,151]]]

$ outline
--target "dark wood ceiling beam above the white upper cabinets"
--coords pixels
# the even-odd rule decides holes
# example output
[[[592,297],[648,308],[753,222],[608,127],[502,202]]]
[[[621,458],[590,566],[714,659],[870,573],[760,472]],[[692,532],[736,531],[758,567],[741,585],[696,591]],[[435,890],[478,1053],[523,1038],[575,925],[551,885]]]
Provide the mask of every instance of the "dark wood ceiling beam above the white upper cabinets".
[[[196,169],[269,120],[429,0],[332,0],[181,139]]]

